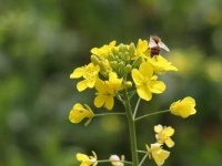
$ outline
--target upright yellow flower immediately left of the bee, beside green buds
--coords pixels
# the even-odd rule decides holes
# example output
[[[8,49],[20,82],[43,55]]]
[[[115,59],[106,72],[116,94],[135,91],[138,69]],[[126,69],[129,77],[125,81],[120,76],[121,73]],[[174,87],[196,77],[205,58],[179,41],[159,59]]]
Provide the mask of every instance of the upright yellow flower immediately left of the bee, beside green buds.
[[[149,50],[148,41],[139,39],[135,55],[142,58],[149,58],[150,53],[148,50]]]

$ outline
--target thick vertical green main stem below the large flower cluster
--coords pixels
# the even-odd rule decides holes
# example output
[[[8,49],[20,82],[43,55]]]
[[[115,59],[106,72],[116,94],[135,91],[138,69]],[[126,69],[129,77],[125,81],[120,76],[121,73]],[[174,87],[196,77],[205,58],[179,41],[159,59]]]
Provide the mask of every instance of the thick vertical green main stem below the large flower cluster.
[[[124,107],[125,107],[125,113],[128,117],[128,124],[129,124],[129,131],[130,131],[130,145],[131,145],[131,155],[132,155],[132,166],[138,166],[139,165],[139,159],[138,159],[138,147],[137,147],[137,136],[135,136],[135,123],[134,118],[132,115],[132,107],[130,103],[130,97],[128,94],[127,89],[123,92],[123,97],[124,97]]]

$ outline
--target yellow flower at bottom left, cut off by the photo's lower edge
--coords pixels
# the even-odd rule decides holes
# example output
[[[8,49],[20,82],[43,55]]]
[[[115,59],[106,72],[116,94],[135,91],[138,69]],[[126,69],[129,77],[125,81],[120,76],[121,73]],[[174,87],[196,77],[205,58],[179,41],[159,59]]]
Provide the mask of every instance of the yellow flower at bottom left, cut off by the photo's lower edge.
[[[77,159],[79,162],[82,162],[80,164],[80,166],[90,166],[90,165],[93,165],[93,166],[97,166],[98,162],[97,162],[97,155],[94,152],[92,152],[93,156],[88,156],[85,154],[80,154],[78,153],[77,154]]]

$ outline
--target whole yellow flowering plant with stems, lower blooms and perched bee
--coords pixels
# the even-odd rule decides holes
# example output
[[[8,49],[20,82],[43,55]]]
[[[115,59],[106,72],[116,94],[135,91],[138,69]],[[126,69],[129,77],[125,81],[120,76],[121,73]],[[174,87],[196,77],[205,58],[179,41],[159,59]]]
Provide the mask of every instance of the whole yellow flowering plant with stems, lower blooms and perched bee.
[[[149,102],[153,94],[161,94],[165,91],[167,85],[159,80],[159,75],[169,71],[178,71],[171,62],[159,54],[161,48],[170,51],[158,37],[151,38],[150,41],[139,39],[137,44],[117,44],[115,41],[112,41],[101,48],[93,48],[91,50],[91,62],[77,68],[70,74],[70,79],[81,79],[77,84],[79,92],[87,89],[95,91],[93,104],[98,108],[103,106],[111,111],[114,107],[115,98],[122,102],[125,112],[121,114],[127,115],[128,122],[132,123],[129,125],[130,135],[135,137],[134,123],[138,120],[165,112],[185,118],[196,112],[194,108],[195,101],[189,96],[172,103],[167,111],[137,117],[140,100]],[[130,100],[135,94],[139,102],[132,111]],[[120,113],[108,113],[108,115],[113,114]],[[99,115],[94,114],[87,104],[77,103],[70,111],[69,120],[72,123],[80,123],[83,118],[88,118],[85,122],[85,125],[88,125],[94,116]],[[150,146],[145,145],[147,156],[153,158],[157,165],[161,166],[170,155],[170,152],[163,149],[163,145],[169,148],[174,146],[174,142],[171,139],[174,128],[159,124],[154,126],[154,132],[157,142]],[[107,160],[98,160],[94,152],[92,152],[93,156],[77,154],[77,159],[81,162],[80,166],[95,166],[102,162],[110,162],[113,166],[123,166],[124,163],[138,166],[138,149],[134,141],[134,138],[131,138],[132,162],[124,160],[124,157],[120,159],[117,155],[111,155]]]

